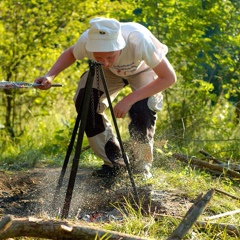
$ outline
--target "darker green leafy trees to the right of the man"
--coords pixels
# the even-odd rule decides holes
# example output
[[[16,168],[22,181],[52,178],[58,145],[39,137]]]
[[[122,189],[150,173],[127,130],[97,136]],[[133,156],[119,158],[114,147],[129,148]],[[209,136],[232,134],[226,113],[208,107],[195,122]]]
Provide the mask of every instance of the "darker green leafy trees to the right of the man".
[[[160,128],[169,129],[179,143],[199,137],[200,129],[210,130],[216,108],[229,99],[237,100],[237,12],[239,3],[230,0],[138,2],[136,20],[168,45],[167,56],[177,72],[178,83],[164,93],[171,125],[168,128],[161,121]]]

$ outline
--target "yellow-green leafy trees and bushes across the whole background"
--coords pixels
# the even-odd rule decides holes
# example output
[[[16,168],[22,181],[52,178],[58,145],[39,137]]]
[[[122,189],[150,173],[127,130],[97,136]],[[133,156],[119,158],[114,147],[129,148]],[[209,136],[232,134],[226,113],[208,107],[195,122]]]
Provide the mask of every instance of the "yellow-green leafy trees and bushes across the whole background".
[[[178,83],[164,92],[166,108],[159,114],[157,135],[170,139],[182,150],[187,145],[194,152],[196,140],[237,139],[239,120],[235,117],[239,115],[234,107],[238,105],[229,100],[239,98],[238,7],[235,1],[220,0],[191,3],[5,0],[0,8],[3,39],[0,77],[32,82],[45,74],[57,56],[76,42],[94,16],[138,21],[168,45],[168,58],[178,75]],[[35,117],[54,114],[59,103],[63,108],[72,106],[78,78],[86,68],[86,62],[81,61],[61,73],[56,80],[64,84],[61,89],[2,91],[3,138],[6,134],[21,137],[30,119],[35,121]],[[124,90],[119,98],[128,92]],[[220,131],[219,126],[225,126],[225,130]],[[227,143],[225,151],[233,144],[230,155],[238,156],[235,142]],[[213,147],[206,141],[201,145]],[[220,142],[216,152],[223,145],[224,141]]]

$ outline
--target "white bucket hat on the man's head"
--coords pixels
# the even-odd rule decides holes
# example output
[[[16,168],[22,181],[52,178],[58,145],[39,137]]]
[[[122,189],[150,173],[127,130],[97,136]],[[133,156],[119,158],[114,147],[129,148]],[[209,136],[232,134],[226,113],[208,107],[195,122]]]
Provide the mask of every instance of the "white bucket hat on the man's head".
[[[114,52],[126,46],[120,23],[116,19],[93,18],[89,23],[87,51]]]

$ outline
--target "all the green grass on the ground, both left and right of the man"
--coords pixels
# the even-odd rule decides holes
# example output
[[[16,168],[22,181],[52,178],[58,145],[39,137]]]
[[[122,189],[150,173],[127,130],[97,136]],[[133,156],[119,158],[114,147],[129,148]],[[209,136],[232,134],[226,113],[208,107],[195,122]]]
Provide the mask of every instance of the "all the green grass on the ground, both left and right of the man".
[[[69,140],[74,125],[74,114],[72,118],[67,119],[64,114],[56,114],[45,117],[44,120],[36,119],[35,124],[29,125],[25,134],[14,141],[3,136],[1,143],[2,153],[0,155],[1,169],[10,170],[12,172],[22,169],[30,169],[34,167],[61,167],[69,144]],[[123,140],[127,141],[127,126],[123,120],[118,120],[120,132],[123,135]],[[236,130],[236,132],[238,132]],[[166,136],[165,136],[166,137]],[[214,143],[216,144],[216,143]],[[223,142],[221,142],[223,144]],[[230,146],[227,142],[225,147],[231,149],[236,148],[236,143]],[[83,147],[87,146],[87,140],[84,138]],[[180,147],[171,142],[171,139],[166,141],[163,136],[157,139],[154,148],[154,178],[143,181],[136,177],[137,186],[145,186],[151,184],[156,190],[165,191],[181,191],[184,197],[193,201],[200,193],[206,193],[212,188],[220,189],[228,192],[234,196],[239,196],[239,182],[229,179],[228,177],[214,176],[202,169],[193,168],[188,164],[183,164],[172,157],[172,153],[181,152],[186,155],[197,155],[192,145]],[[221,145],[223,148],[224,146]],[[199,149],[201,146],[199,146]],[[185,149],[185,150],[184,150]],[[210,149],[210,143],[208,143]],[[219,146],[217,146],[219,149]],[[73,149],[73,153],[74,153]],[[236,155],[237,156],[237,155]],[[232,155],[232,159],[235,159]],[[72,156],[71,156],[72,157]],[[80,167],[95,168],[102,164],[101,160],[97,158],[92,151],[86,150],[81,154]],[[116,206],[118,207],[118,206]],[[190,207],[190,206],[188,206]],[[216,215],[227,211],[232,211],[240,208],[240,201],[221,193],[215,193],[205,211],[199,217],[199,220],[206,216]],[[183,206],[179,209],[182,216],[187,209]],[[101,224],[100,227],[104,229],[116,230],[123,233],[139,235],[149,239],[166,239],[176,229],[181,219],[174,216],[166,216],[158,218],[153,212],[142,212],[141,206],[137,209],[133,207],[128,200],[124,205],[122,222],[110,222],[108,224]],[[240,216],[228,216],[215,220],[217,223],[228,223],[240,226]],[[96,225],[96,223],[95,223]],[[108,239],[101,238],[101,239]],[[231,240],[238,239],[237,237],[229,235],[226,230],[213,229],[207,226],[200,229],[193,226],[184,239],[198,239],[198,240]]]

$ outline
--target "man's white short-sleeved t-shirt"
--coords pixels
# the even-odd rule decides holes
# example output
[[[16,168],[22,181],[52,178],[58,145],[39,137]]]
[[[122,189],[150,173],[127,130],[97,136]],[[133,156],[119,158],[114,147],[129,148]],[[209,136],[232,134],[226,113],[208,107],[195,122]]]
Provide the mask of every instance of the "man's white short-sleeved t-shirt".
[[[109,68],[118,76],[131,76],[147,68],[156,67],[167,54],[168,48],[162,44],[144,26],[138,23],[121,23],[122,35],[126,41],[125,48],[113,66]],[[88,30],[78,39],[73,49],[76,59],[87,57],[94,61],[92,52],[86,50]]]

